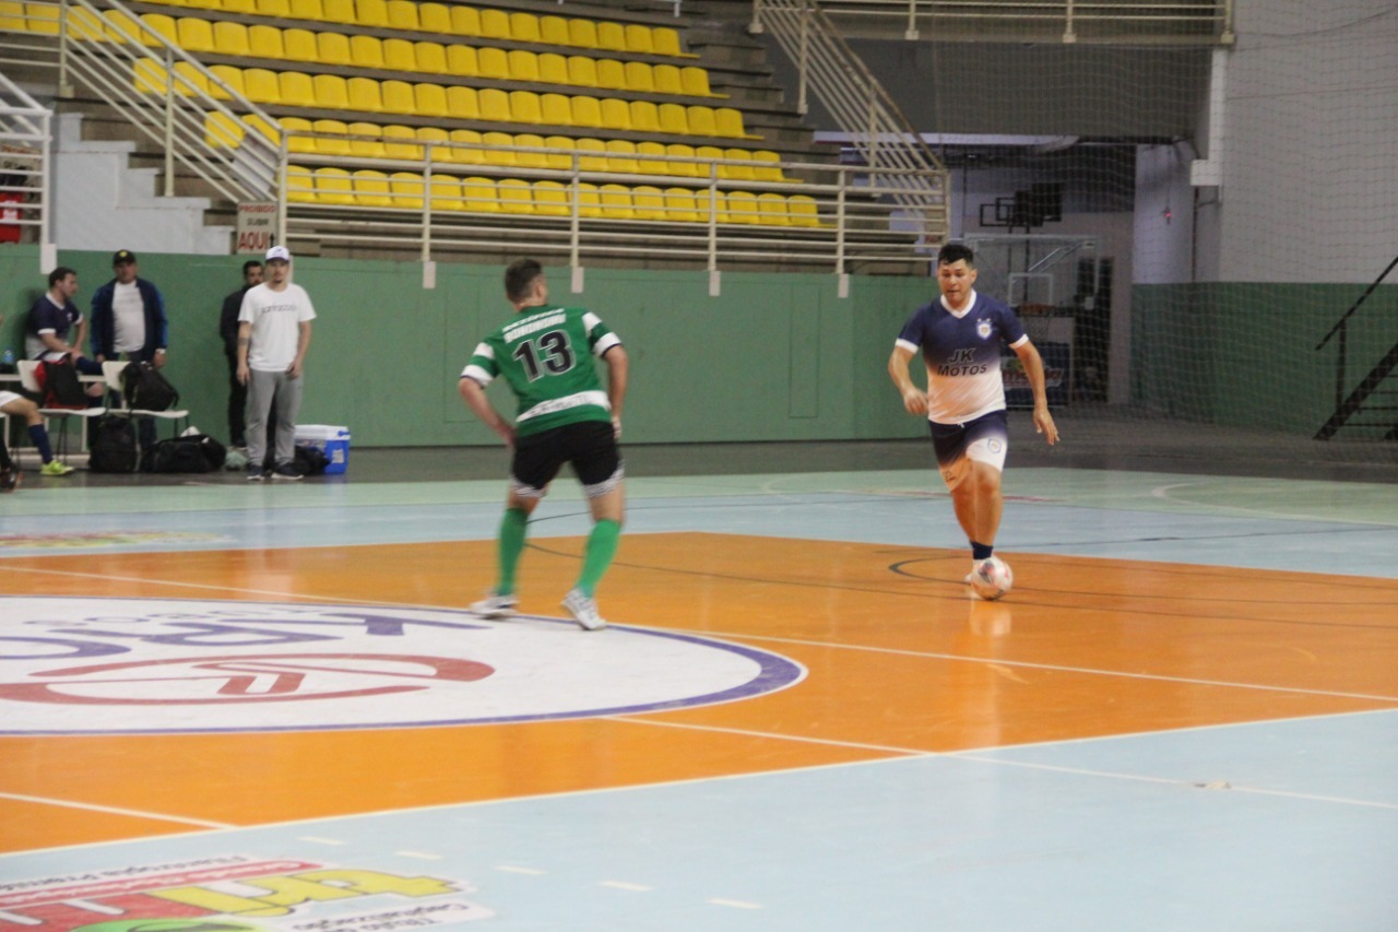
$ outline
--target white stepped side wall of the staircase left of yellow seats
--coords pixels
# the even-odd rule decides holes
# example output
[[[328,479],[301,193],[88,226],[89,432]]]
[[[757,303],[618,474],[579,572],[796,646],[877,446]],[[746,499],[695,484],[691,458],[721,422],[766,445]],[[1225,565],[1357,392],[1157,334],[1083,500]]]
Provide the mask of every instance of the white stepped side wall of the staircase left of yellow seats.
[[[204,224],[207,197],[157,196],[157,169],[130,165],[136,143],[84,140],[81,113],[62,113],[56,123],[53,238],[60,249],[229,255],[232,227]]]

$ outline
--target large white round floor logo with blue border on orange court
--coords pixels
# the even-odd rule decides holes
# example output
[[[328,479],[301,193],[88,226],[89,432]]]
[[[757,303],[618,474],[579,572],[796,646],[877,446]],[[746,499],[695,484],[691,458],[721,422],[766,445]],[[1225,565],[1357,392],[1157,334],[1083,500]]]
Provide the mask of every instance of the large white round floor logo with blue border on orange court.
[[[542,617],[260,602],[0,598],[0,733],[466,725],[784,689],[754,648]]]

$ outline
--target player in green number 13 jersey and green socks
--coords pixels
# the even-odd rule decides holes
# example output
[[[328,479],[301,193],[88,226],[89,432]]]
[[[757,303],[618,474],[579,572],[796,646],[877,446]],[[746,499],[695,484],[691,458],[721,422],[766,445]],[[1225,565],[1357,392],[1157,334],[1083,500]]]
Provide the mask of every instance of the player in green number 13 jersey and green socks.
[[[597,584],[617,554],[625,512],[625,470],[617,439],[626,396],[626,350],[596,313],[551,302],[544,269],[533,259],[519,259],[505,270],[505,297],[514,306],[514,319],[475,347],[460,379],[467,407],[514,451],[496,549],[499,577],[471,612],[488,619],[514,614],[514,571],[528,516],[562,465],[572,463],[593,514],[593,530],[563,607],[583,628],[596,631],[607,627],[597,613]],[[607,364],[605,390],[594,358]],[[505,376],[519,399],[513,425],[485,397],[485,386],[496,376]]]

